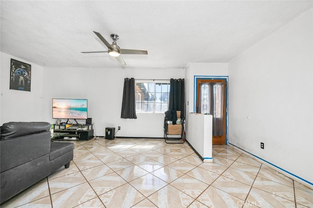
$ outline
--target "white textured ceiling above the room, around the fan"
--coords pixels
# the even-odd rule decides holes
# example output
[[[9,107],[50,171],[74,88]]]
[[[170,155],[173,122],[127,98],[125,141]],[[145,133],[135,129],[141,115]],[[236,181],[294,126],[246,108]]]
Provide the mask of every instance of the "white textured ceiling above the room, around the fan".
[[[313,7],[313,1],[1,0],[0,50],[43,66],[120,67],[92,31],[121,48],[128,68],[229,62]]]

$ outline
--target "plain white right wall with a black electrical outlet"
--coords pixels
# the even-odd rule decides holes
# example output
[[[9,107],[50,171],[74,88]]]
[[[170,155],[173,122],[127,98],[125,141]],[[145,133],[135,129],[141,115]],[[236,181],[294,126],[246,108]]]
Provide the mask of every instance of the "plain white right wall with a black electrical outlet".
[[[229,143],[312,185],[313,9],[229,62],[228,74]]]

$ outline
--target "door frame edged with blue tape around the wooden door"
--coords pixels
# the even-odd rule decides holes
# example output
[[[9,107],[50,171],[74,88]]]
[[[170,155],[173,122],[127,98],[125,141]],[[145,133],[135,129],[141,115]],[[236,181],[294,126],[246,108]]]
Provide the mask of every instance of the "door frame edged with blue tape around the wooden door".
[[[197,109],[198,80],[224,80],[224,100],[225,100],[225,145],[228,144],[228,76],[194,76],[194,112]]]

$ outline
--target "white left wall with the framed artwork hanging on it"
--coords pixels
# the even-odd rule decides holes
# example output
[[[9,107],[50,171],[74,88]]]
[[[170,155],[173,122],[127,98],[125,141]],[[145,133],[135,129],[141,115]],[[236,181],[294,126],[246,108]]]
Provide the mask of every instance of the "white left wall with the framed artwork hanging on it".
[[[42,109],[43,67],[2,52],[0,58],[1,125],[11,121],[45,121],[40,113]],[[31,64],[30,92],[10,90],[11,59]]]

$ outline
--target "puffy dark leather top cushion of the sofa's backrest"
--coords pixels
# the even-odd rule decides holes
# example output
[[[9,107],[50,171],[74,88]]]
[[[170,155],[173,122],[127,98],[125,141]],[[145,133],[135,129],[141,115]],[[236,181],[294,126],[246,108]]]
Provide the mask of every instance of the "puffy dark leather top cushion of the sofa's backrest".
[[[1,140],[49,131],[47,122],[9,122],[1,126]]]

